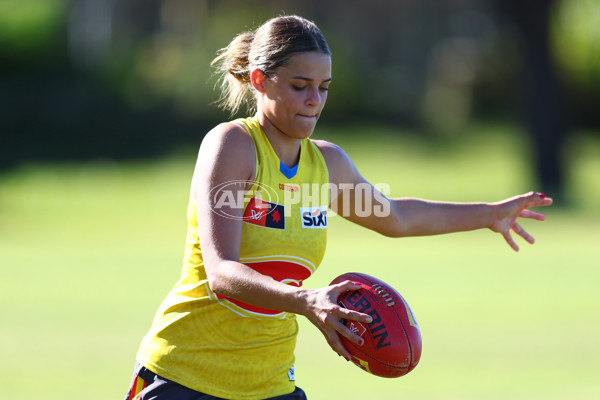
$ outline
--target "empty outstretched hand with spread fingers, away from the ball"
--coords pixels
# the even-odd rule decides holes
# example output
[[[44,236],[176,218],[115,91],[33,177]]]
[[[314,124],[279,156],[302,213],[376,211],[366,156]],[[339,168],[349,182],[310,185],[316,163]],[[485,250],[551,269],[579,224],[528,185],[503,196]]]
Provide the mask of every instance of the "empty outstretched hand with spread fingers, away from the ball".
[[[546,219],[544,214],[531,211],[530,208],[549,206],[550,204],[552,204],[551,198],[546,197],[543,193],[535,192],[511,197],[510,199],[494,203],[493,206],[497,210],[496,218],[490,225],[490,229],[500,233],[513,250],[519,251],[519,246],[511,236],[511,231],[515,232],[529,243],[533,244],[535,239],[517,223],[517,218],[544,221]]]

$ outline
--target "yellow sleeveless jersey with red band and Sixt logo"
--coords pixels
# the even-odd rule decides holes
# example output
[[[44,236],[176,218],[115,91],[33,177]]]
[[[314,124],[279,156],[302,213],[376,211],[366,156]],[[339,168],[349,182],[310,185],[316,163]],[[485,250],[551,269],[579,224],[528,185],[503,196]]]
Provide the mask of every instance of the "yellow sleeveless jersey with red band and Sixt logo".
[[[298,165],[287,168],[257,117],[237,122],[250,133],[256,149],[255,182],[243,202],[240,262],[300,286],[325,253],[329,203],[325,160],[305,139]],[[215,195],[232,200],[226,190]],[[164,378],[227,399],[264,399],[294,391],[296,316],[215,294],[206,279],[198,239],[202,221],[197,221],[191,197],[187,215],[182,276],[142,340],[138,362]]]

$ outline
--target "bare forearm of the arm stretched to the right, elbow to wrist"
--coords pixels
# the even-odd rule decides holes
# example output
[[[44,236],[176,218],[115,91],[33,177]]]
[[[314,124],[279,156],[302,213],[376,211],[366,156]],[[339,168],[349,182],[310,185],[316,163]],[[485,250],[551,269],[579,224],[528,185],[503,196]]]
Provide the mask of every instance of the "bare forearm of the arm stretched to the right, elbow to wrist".
[[[391,200],[390,236],[425,236],[488,228],[495,218],[490,203],[448,203],[421,199]]]

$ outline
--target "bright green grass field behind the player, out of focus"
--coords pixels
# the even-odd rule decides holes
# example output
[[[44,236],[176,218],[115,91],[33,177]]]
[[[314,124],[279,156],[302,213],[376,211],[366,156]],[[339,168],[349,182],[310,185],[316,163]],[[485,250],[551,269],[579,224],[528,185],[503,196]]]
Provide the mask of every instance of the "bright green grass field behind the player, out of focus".
[[[536,189],[526,141],[501,128],[429,145],[322,134],[393,196],[493,201]],[[135,352],[178,278],[195,150],[161,160],[25,165],[0,176],[2,398],[124,397]],[[490,231],[388,239],[330,219],[307,287],[347,271],[389,282],[423,336],[419,366],[369,376],[300,318],[297,384],[311,400],[600,397],[600,139],[569,142],[569,207],[524,223],[515,254]],[[551,195],[549,193],[549,195]]]

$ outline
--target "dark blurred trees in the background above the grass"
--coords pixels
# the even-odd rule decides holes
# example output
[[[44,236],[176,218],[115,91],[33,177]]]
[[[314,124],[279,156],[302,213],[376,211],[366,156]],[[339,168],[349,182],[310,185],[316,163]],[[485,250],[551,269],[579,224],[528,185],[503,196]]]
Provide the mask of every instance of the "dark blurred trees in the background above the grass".
[[[519,119],[548,193],[570,129],[600,127],[597,0],[0,0],[0,169],[197,145],[228,117],[216,51],[280,14],[315,21],[332,49],[320,124],[439,140]]]

